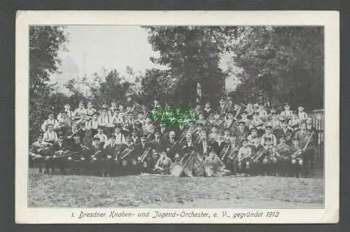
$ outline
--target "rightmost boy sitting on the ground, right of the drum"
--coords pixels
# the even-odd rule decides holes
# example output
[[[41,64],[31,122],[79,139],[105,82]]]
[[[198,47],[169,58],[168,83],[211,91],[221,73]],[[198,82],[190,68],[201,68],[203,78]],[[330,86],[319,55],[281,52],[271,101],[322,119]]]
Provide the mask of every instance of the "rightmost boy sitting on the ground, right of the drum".
[[[207,176],[222,176],[228,175],[230,171],[225,169],[225,164],[216,155],[215,150],[209,152],[209,156],[204,159],[204,170]]]

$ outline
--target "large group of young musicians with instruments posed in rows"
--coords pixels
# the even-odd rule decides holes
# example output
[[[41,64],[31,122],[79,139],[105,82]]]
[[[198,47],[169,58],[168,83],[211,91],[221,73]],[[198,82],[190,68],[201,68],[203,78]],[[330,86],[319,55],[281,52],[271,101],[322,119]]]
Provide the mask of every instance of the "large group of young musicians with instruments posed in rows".
[[[313,170],[317,131],[303,106],[280,113],[259,103],[235,104],[221,99],[188,114],[193,119],[151,117],[160,108],[127,103],[69,103],[58,115],[50,113],[43,133],[32,143],[29,164],[39,172],[113,176],[137,173],[179,175],[306,175]],[[176,109],[176,108],[175,108]],[[167,112],[169,113],[169,112]],[[172,112],[176,114],[176,110]],[[167,117],[169,121],[169,117]],[[183,174],[185,173],[185,174]]]

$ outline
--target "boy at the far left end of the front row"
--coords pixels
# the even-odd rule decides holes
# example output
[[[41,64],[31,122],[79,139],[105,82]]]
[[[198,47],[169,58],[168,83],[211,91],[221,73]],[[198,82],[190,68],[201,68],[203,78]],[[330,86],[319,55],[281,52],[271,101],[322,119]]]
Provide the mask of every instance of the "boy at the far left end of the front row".
[[[45,157],[45,154],[48,151],[49,147],[50,143],[43,141],[43,135],[39,135],[36,141],[31,144],[29,150],[29,165],[31,163],[38,164],[39,173],[42,173],[43,157]]]

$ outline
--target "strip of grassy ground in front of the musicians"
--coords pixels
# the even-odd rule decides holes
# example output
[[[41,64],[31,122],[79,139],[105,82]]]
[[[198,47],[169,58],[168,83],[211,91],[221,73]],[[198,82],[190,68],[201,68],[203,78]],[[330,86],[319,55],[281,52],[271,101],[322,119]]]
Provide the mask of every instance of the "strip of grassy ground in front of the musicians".
[[[29,207],[323,208],[323,180],[29,175]]]

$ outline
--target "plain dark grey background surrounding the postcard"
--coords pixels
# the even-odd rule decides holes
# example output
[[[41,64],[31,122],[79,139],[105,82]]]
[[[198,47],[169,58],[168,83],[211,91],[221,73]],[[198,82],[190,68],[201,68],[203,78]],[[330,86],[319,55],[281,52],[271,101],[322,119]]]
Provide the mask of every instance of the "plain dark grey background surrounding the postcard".
[[[62,1],[0,0],[0,231],[350,231],[350,13],[349,0],[231,0],[231,1]],[[237,224],[15,224],[15,12],[16,10],[340,10],[340,222],[327,225],[237,225]],[[20,143],[20,141],[18,141]],[[347,185],[347,186],[346,186]],[[347,187],[347,188],[346,188]]]

